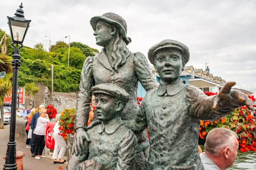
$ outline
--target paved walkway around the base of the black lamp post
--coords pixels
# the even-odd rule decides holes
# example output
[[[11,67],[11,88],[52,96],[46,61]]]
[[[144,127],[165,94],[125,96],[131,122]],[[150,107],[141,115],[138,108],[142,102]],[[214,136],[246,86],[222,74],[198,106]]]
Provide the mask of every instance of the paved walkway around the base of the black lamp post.
[[[6,154],[7,142],[9,141],[9,130],[10,125],[4,125],[4,129],[0,130],[0,169],[3,169],[5,164],[3,156]],[[26,144],[19,140],[16,140],[16,151],[22,151],[25,153],[25,156],[23,157],[24,169],[66,169],[67,166],[66,164],[53,164],[51,155],[47,155],[46,158],[41,158],[39,160],[35,159],[35,157],[31,157],[30,148],[26,148]]]

